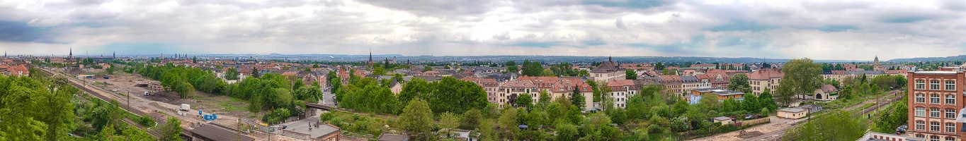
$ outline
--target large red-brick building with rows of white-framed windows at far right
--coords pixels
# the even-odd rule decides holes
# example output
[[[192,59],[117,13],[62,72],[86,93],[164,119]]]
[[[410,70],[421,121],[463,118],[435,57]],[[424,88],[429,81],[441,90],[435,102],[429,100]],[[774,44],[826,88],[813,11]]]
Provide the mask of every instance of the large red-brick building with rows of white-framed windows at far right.
[[[940,69],[908,74],[908,132],[930,140],[960,141],[964,132],[956,124],[957,109],[963,108],[962,70]]]

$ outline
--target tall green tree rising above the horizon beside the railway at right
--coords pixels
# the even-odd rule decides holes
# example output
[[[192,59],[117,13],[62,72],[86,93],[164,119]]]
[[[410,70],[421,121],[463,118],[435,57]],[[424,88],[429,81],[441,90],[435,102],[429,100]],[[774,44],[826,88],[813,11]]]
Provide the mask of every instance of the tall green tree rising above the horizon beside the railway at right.
[[[811,93],[822,84],[821,65],[808,58],[788,60],[781,71],[785,75],[781,77],[778,91],[784,106],[792,103],[791,97]]]

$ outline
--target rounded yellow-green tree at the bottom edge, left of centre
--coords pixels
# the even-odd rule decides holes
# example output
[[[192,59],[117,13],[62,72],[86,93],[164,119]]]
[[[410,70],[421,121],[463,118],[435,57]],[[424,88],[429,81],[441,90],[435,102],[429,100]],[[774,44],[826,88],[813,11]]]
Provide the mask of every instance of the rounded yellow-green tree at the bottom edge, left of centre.
[[[414,140],[433,140],[433,111],[426,101],[415,99],[410,101],[403,113],[399,115],[401,129],[412,135]]]

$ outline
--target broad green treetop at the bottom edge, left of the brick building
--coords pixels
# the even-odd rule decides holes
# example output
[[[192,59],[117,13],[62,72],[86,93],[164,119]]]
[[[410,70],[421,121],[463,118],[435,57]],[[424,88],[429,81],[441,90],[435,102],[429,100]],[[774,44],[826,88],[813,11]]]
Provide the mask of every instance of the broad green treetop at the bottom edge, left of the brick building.
[[[795,129],[786,130],[782,140],[856,140],[862,137],[865,132],[866,123],[862,121],[862,118],[856,117],[848,111],[837,109],[812,118],[809,122],[795,127]]]

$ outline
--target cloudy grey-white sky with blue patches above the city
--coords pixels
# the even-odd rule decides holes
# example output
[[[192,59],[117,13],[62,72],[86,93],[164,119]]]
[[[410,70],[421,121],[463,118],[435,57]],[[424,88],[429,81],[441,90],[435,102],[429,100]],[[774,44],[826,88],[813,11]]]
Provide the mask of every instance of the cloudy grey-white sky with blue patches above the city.
[[[13,55],[963,55],[962,0],[8,0]]]

